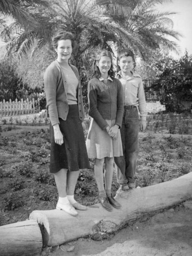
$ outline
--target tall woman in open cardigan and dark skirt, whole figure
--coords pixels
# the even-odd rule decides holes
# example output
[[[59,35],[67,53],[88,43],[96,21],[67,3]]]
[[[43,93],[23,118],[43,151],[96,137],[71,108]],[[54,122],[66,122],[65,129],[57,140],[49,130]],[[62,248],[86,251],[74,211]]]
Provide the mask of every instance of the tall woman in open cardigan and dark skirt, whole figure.
[[[50,116],[50,172],[54,174],[59,200],[56,209],[77,216],[87,207],[74,199],[79,169],[90,168],[82,127],[84,108],[78,70],[68,60],[74,46],[73,34],[53,39],[57,60],[44,73],[46,108]]]

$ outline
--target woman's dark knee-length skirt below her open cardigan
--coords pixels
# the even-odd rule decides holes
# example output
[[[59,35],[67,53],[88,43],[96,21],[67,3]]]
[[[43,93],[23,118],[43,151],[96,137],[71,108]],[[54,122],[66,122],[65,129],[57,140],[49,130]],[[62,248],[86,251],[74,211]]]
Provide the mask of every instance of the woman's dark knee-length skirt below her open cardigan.
[[[55,143],[53,126],[50,124],[50,173],[57,173],[62,168],[70,172],[90,168],[78,105],[69,105],[67,120],[59,118],[59,122],[64,143]]]

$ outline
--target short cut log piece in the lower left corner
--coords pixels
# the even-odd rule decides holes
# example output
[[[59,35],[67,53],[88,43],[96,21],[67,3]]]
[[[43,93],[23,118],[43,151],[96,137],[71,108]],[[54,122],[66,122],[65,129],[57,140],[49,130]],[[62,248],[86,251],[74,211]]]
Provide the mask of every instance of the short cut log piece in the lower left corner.
[[[27,220],[0,226],[0,255],[39,255],[42,235],[37,221]]]

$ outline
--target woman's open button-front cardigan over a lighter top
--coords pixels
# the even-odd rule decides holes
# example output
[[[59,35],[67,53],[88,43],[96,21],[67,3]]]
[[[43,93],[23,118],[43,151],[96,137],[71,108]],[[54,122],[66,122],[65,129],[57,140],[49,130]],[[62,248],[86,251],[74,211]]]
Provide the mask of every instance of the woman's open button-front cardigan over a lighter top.
[[[79,118],[83,121],[85,117],[81,81],[78,70],[75,66],[70,65],[78,78],[78,108]],[[66,120],[68,115],[67,102],[67,82],[65,74],[57,60],[53,61],[44,73],[44,91],[46,95],[46,109],[49,112],[52,125],[59,123],[59,118]]]

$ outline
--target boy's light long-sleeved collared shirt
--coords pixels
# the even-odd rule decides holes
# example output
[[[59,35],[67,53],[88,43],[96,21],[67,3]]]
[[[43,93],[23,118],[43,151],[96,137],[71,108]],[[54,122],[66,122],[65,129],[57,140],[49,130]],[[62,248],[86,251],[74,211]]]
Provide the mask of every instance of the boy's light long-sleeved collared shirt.
[[[146,98],[141,76],[132,72],[131,77],[125,78],[119,71],[117,78],[123,86],[124,104],[137,106],[140,116],[147,117]]]

